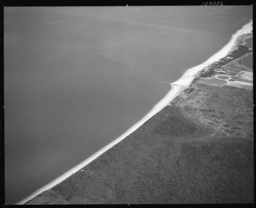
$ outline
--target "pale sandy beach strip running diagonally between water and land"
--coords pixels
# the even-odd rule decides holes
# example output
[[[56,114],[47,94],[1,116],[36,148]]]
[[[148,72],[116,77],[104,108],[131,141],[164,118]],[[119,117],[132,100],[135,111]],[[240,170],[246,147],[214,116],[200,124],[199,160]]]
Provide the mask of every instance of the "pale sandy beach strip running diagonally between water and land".
[[[56,186],[60,182],[64,181],[67,179],[70,175],[76,173],[78,170],[83,168],[84,166],[88,165],[88,163],[91,163],[93,160],[98,158],[101,154],[104,152],[108,151],[111,147],[114,145],[118,144],[120,141],[122,141],[124,138],[126,138],[128,135],[130,135],[132,132],[136,131],[140,126],[142,126],[145,122],[147,122],[151,117],[156,115],[158,112],[160,112],[164,107],[166,107],[174,98],[176,98],[186,87],[188,87],[193,79],[195,78],[196,74],[200,72],[201,70],[204,69],[205,66],[208,66],[211,63],[214,63],[221,58],[227,56],[227,54],[232,50],[232,47],[234,47],[234,44],[236,44],[236,39],[238,36],[241,34],[246,34],[246,33],[252,33],[252,20],[248,22],[248,24],[245,24],[241,29],[239,29],[235,34],[232,35],[230,38],[230,41],[228,41],[227,45],[225,45],[221,50],[216,52],[216,54],[213,54],[207,61],[205,61],[202,64],[199,64],[197,66],[194,66],[193,68],[189,68],[188,70],[185,71],[185,73],[175,82],[170,83],[172,88],[170,91],[162,98],[154,107],[142,118],[140,121],[135,123],[134,125],[131,126],[125,133],[120,135],[120,137],[116,138],[112,142],[110,142],[108,145],[100,149],[99,151],[95,152],[84,160],[83,162],[79,163],[76,165],[74,168],[68,170],[64,174],[60,175],[58,178],[54,179],[53,181],[49,182],[42,188],[36,190],[34,193],[29,195],[28,197],[24,198],[17,204],[25,204],[32,198],[36,197],[37,195],[40,195],[40,193],[43,193],[44,191],[47,191],[48,189],[51,189],[52,187]]]

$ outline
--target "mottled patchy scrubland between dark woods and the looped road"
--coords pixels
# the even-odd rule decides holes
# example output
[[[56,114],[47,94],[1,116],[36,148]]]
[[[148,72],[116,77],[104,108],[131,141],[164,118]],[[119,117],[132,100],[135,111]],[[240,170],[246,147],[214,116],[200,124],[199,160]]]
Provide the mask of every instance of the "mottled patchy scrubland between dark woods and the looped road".
[[[179,106],[225,136],[253,134],[252,90],[196,84]]]

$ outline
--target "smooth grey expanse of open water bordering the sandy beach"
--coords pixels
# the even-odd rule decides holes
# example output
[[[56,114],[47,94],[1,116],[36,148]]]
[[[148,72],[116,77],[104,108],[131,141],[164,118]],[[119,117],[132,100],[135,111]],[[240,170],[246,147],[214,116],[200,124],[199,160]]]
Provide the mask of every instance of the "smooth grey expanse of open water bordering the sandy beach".
[[[124,133],[250,6],[4,8],[6,203]]]

